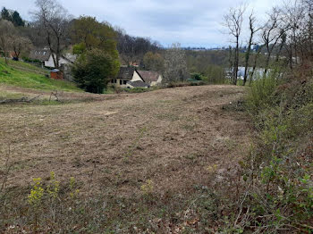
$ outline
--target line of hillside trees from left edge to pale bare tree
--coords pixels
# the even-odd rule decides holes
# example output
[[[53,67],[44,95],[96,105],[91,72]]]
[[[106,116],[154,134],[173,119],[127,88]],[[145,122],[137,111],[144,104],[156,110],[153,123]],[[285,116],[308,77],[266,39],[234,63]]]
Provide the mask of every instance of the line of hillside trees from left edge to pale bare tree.
[[[1,13],[0,48],[6,63],[9,52],[19,60],[33,45],[48,47],[55,68],[62,69],[60,58],[72,52],[78,57],[72,68],[76,82],[94,93],[103,92],[121,63],[162,72],[168,82],[187,78],[185,52],[177,45],[165,50],[156,41],[132,37],[106,21],[90,16],[75,19],[55,0],[36,0],[35,4],[33,21],[27,27],[19,13],[6,8]]]

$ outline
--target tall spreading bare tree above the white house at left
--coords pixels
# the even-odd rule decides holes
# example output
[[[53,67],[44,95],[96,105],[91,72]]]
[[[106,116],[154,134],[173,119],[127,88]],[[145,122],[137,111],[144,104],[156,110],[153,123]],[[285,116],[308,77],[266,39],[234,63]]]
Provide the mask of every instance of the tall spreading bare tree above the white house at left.
[[[63,6],[54,0],[37,0],[36,5],[38,11],[32,14],[38,28],[45,35],[55,68],[59,68],[62,51],[69,44],[70,16]]]

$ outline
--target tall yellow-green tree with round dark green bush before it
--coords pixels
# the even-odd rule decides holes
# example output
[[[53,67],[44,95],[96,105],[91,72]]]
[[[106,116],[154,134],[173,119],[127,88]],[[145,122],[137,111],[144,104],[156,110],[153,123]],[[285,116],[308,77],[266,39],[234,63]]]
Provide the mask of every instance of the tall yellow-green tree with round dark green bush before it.
[[[103,93],[108,81],[120,69],[114,29],[96,18],[81,16],[72,24],[72,40],[77,43],[73,52],[79,59],[72,68],[80,88],[88,92]]]

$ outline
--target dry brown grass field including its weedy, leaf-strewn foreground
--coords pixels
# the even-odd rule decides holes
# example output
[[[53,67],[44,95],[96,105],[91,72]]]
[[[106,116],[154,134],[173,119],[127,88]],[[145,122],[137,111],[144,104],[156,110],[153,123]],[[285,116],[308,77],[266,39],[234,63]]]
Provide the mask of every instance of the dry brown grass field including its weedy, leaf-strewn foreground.
[[[227,219],[215,191],[236,196],[238,162],[250,150],[249,118],[237,105],[244,88],[60,93],[51,103],[49,92],[5,92],[43,101],[0,105],[5,233],[213,233]],[[31,184],[41,178],[46,188],[50,171],[63,196],[75,178],[80,200],[43,201],[33,214]]]

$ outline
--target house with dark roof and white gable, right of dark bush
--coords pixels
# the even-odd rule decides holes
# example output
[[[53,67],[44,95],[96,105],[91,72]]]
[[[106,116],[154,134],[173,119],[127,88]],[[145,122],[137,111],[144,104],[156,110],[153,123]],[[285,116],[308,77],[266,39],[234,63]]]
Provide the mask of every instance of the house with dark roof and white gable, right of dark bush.
[[[162,82],[162,75],[157,71],[137,71],[133,67],[121,67],[111,84],[121,88],[149,88]]]

